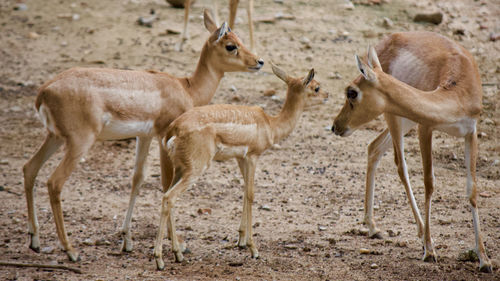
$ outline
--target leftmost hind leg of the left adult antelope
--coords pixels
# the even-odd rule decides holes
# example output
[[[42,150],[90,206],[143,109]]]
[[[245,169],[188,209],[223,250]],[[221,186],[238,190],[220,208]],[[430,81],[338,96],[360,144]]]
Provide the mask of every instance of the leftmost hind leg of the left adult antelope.
[[[63,141],[50,133],[45,137],[45,141],[38,151],[23,166],[24,192],[28,205],[28,233],[30,234],[30,248],[35,252],[40,252],[40,234],[38,233],[38,218],[35,210],[34,185],[38,171],[42,165],[52,156],[62,145]]]

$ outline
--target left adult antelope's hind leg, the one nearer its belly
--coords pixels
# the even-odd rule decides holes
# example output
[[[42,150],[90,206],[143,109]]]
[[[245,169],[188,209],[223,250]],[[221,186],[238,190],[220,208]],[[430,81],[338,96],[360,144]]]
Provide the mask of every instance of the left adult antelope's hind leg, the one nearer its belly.
[[[66,153],[50,176],[47,187],[49,190],[50,206],[54,214],[54,221],[56,223],[57,235],[63,246],[64,251],[71,261],[78,260],[78,253],[68,241],[68,236],[64,228],[64,220],[61,207],[61,191],[64,182],[71,175],[81,157],[88,151],[94,143],[95,137],[90,133],[85,137],[70,137],[66,140]]]

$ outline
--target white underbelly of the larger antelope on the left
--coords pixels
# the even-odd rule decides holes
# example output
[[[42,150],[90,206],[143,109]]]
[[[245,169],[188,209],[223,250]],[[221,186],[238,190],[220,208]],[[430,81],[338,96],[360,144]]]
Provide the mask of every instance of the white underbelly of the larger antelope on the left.
[[[103,117],[104,126],[98,140],[119,140],[153,135],[153,120],[119,120],[109,114]]]

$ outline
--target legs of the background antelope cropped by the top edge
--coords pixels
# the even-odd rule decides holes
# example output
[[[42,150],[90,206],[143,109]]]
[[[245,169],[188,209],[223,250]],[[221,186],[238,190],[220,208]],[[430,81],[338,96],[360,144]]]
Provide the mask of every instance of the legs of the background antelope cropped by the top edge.
[[[238,10],[238,4],[240,0],[229,0],[229,28],[234,28],[234,21],[236,20],[236,11]],[[247,15],[248,15],[248,31],[250,33],[250,51],[254,52],[255,43],[253,40],[253,0],[247,0]],[[215,16],[215,21],[217,22],[217,3],[216,0],[212,0],[213,13]],[[189,10],[191,9],[191,0],[184,1],[184,28],[182,30],[181,42],[176,46],[178,51],[182,51],[184,43],[189,39],[188,33],[188,23],[189,23]]]

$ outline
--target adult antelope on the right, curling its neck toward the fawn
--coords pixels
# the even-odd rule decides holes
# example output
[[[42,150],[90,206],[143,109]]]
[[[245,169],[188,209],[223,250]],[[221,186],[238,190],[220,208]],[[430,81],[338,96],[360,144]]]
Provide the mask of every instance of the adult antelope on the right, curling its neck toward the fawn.
[[[377,55],[378,53],[378,55]],[[380,60],[379,60],[380,57]],[[423,239],[424,261],[436,261],[430,234],[430,205],[434,190],[432,131],[465,138],[467,195],[474,223],[480,270],[492,266],[483,245],[477,211],[476,123],[482,109],[481,81],[472,55],[457,43],[431,32],[395,33],[368,51],[368,64],[356,56],[361,75],[346,88],[345,104],[332,131],[349,136],[360,125],[384,114],[388,129],[368,147],[365,219],[371,236],[380,236],[373,221],[373,189],[377,164],[392,144],[398,174]],[[385,72],[384,72],[385,71]],[[418,124],[425,185],[423,226],[404,158],[403,136]]]

